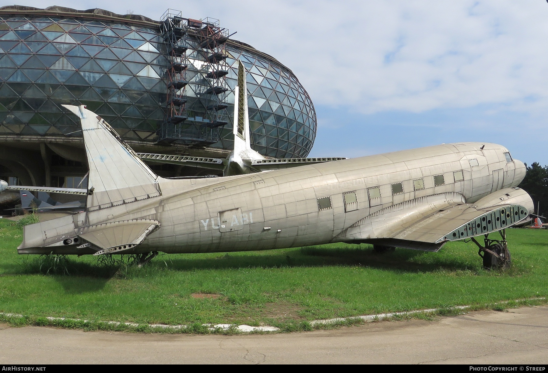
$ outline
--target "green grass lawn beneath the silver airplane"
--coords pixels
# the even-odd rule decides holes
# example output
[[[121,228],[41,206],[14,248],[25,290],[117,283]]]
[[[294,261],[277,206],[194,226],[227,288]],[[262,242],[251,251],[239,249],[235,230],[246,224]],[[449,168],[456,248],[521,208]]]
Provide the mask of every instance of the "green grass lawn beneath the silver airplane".
[[[18,255],[0,220],[0,312],[150,324],[236,323],[306,330],[306,320],[546,296],[548,230],[507,230],[512,267],[485,271],[473,243],[438,253],[366,244],[159,255],[137,268]],[[68,274],[67,274],[68,273]],[[220,294],[196,299],[192,293]],[[23,322],[23,321],[21,321]],[[198,328],[199,329],[199,328]]]

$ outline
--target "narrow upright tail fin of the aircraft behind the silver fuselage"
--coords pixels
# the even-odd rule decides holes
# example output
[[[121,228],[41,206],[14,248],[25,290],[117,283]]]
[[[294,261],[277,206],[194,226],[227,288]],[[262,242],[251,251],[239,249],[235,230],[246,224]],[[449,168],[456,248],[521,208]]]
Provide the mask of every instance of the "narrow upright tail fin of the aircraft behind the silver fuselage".
[[[247,106],[246,67],[238,60],[238,85],[234,91],[234,154],[242,159],[265,159],[251,148]]]

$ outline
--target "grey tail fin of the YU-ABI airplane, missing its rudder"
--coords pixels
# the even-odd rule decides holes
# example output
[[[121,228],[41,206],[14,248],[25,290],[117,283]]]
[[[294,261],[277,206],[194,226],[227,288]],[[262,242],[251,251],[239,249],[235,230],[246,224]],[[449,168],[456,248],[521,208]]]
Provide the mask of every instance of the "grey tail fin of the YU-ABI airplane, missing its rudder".
[[[63,105],[82,123],[89,165],[88,211],[160,195],[158,177],[99,115]]]

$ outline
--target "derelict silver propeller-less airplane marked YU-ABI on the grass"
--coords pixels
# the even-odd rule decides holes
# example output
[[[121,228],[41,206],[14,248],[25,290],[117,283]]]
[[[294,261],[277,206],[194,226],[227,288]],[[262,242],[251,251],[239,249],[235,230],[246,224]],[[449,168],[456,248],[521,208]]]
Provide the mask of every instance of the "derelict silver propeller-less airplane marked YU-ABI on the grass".
[[[436,252],[471,240],[510,264],[505,229],[530,219],[523,162],[490,143],[442,144],[268,172],[157,176],[99,115],[82,125],[86,210],[24,228],[19,254],[208,253],[370,243]],[[499,232],[500,238],[490,238]],[[483,244],[475,237],[484,236]]]

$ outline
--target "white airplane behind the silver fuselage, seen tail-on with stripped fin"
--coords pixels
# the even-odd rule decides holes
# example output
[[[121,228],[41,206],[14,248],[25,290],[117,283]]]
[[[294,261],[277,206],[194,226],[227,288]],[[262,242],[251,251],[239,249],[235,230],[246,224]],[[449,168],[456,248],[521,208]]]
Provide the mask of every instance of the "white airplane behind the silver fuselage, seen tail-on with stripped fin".
[[[258,151],[252,149],[250,143],[246,67],[239,60],[238,85],[235,88],[234,97],[234,150],[231,151],[227,159],[151,153],[137,153],[137,155],[142,160],[150,162],[196,166],[218,172],[222,171],[223,176],[281,170],[282,168],[346,159],[344,157],[272,159],[262,156]]]

